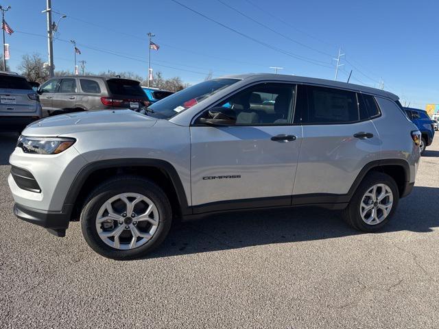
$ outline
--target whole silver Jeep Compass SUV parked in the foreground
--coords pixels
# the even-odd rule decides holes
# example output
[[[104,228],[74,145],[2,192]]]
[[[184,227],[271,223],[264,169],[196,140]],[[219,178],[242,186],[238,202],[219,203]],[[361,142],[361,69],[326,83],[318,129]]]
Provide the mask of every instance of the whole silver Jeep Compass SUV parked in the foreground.
[[[29,125],[8,178],[17,217],[99,254],[159,245],[174,219],[319,206],[375,232],[414,186],[420,132],[398,97],[287,75],[222,77],[147,108]]]

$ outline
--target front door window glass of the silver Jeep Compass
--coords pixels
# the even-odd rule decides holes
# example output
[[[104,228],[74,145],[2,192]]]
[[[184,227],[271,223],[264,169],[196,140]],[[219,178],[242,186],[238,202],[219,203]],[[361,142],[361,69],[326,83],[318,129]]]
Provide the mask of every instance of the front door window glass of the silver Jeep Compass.
[[[258,84],[217,106],[231,110],[236,125],[283,125],[292,121],[295,89],[292,84]]]

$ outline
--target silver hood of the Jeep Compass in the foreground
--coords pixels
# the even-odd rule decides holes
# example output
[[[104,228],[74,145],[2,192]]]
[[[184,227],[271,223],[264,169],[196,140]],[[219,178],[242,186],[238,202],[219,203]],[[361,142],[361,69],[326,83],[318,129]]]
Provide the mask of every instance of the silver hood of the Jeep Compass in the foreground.
[[[134,129],[152,127],[157,119],[132,110],[102,110],[60,114],[35,121],[22,134],[25,136],[60,136],[75,132]]]

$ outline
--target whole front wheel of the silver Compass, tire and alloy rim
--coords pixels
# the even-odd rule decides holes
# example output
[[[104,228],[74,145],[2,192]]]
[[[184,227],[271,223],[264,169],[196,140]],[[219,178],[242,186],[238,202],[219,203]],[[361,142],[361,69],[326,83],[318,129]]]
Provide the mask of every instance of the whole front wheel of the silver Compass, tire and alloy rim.
[[[162,189],[137,176],[121,176],[91,193],[81,213],[84,239],[98,254],[139,258],[165,239],[171,205]]]

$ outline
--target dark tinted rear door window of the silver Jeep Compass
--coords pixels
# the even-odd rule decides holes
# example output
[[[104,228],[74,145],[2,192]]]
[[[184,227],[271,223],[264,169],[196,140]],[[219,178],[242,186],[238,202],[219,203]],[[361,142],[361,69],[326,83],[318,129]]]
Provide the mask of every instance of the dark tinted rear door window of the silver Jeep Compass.
[[[302,123],[348,123],[359,121],[357,94],[347,90],[307,86],[308,110]]]

